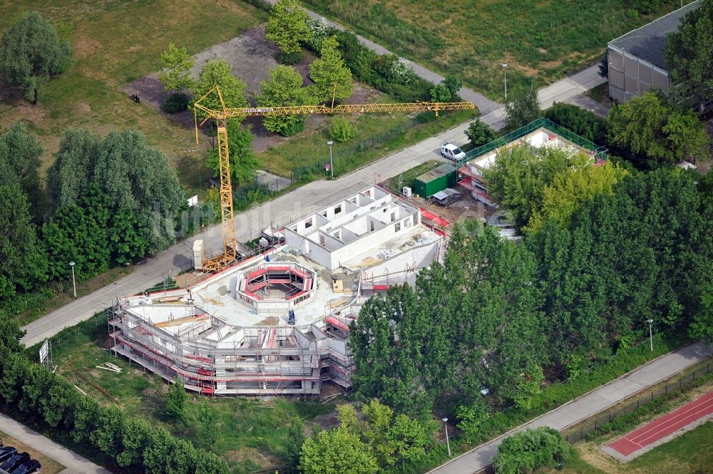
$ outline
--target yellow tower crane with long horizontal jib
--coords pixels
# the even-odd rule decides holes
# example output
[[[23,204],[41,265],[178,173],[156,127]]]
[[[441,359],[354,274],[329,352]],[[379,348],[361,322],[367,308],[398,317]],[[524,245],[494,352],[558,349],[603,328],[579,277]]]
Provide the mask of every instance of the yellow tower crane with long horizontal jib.
[[[336,89],[336,87],[335,87]],[[211,93],[216,93],[220,99],[221,110],[214,110],[203,105]],[[202,269],[215,271],[226,267],[237,257],[237,240],[235,239],[235,215],[232,208],[232,186],[230,185],[230,156],[227,144],[227,119],[244,117],[265,117],[269,115],[312,115],[332,113],[364,113],[364,112],[419,112],[433,110],[438,116],[439,110],[465,110],[475,108],[470,102],[416,102],[416,103],[373,103],[334,105],[292,105],[286,107],[245,107],[229,108],[225,105],[220,92],[220,86],[215,86],[193,104],[193,112],[197,115],[202,110],[209,118],[214,118],[217,125],[218,162],[220,163],[220,216],[222,224],[223,252],[210,259],[204,259]],[[195,141],[198,143],[198,117],[195,123]],[[203,123],[205,123],[203,120]]]

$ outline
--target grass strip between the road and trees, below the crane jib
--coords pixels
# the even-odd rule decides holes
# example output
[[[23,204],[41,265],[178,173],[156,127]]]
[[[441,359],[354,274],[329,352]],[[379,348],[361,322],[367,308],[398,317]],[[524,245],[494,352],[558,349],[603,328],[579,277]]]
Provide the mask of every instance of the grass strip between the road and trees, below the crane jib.
[[[388,96],[381,94],[376,101],[386,101]],[[443,130],[447,130],[466,120],[475,119],[478,110],[456,110],[442,112],[429,123],[415,123],[414,118],[406,113],[369,113],[349,116],[356,125],[356,138],[347,143],[335,142],[332,146],[334,158],[334,176],[355,170],[374,160],[414,145]],[[287,143],[268,148],[259,153],[260,166],[276,175],[291,177],[292,172],[309,167],[320,161],[329,162],[329,127],[334,117],[327,117],[313,133],[297,135]],[[466,136],[463,135],[463,140]],[[324,168],[316,177],[325,177]]]

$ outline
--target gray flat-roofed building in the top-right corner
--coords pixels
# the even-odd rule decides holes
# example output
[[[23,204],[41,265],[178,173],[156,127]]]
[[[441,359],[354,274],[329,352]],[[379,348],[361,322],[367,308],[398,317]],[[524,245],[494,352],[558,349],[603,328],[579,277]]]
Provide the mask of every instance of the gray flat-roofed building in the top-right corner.
[[[671,84],[664,63],[666,36],[676,31],[681,19],[699,4],[696,0],[608,43],[609,96],[612,99],[626,102],[652,88],[668,95]]]

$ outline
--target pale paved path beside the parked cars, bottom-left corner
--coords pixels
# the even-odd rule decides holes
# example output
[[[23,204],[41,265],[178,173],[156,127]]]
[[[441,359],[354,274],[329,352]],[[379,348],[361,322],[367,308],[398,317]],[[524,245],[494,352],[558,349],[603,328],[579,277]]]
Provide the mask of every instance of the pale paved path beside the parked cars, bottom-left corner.
[[[2,413],[0,413],[0,427],[2,431],[13,438],[64,465],[66,469],[61,474],[111,474],[111,471],[86,460],[81,455],[68,450],[63,445],[55,443],[53,440]]]

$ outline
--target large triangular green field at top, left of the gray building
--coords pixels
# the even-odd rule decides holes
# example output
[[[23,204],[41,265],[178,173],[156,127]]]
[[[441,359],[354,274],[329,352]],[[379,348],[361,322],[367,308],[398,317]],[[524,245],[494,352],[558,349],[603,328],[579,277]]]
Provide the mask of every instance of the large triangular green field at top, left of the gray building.
[[[493,99],[596,61],[607,41],[680,6],[639,16],[627,0],[304,0],[303,4]],[[684,1],[684,4],[690,0]]]

